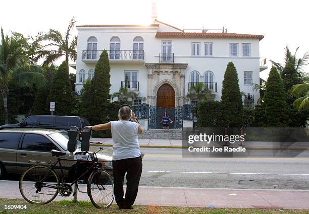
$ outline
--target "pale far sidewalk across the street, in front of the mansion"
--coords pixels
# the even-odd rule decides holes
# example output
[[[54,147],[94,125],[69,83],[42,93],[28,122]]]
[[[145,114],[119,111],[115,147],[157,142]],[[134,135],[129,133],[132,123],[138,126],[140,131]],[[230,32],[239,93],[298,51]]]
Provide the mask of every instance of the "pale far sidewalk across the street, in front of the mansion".
[[[90,142],[100,143],[106,147],[113,146],[112,138],[91,138]],[[183,148],[181,139],[138,139],[140,147],[146,148]],[[238,146],[235,142],[235,146]],[[308,150],[309,142],[261,142],[261,141],[245,141],[244,146],[246,149],[251,150]],[[99,145],[99,144],[98,144]],[[218,146],[216,142],[206,144],[202,142],[201,146]]]

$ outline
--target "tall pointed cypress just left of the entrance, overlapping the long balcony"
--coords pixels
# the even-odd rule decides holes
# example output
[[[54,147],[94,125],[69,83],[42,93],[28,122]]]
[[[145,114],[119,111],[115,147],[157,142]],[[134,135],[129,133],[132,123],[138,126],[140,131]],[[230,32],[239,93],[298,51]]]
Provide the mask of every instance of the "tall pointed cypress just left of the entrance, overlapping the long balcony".
[[[111,67],[109,56],[104,50],[94,68],[93,79],[90,84],[91,105],[88,108],[91,124],[103,123],[108,115],[107,103],[110,102]]]

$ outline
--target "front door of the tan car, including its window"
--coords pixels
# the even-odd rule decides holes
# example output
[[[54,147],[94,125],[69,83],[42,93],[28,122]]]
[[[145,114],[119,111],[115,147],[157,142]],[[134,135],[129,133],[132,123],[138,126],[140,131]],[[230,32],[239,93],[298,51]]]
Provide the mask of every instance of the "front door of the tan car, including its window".
[[[53,157],[51,150],[59,149],[54,142],[46,136],[39,133],[25,133],[22,143],[17,150],[16,168],[18,173],[22,173],[34,163],[29,163],[30,160],[43,162],[56,162],[57,157]]]

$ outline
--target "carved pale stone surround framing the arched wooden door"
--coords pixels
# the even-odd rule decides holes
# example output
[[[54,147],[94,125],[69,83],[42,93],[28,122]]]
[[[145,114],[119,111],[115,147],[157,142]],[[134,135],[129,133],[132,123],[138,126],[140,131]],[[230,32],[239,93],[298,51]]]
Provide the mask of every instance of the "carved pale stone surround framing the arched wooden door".
[[[185,98],[185,69],[187,63],[145,63],[148,69],[147,103],[157,106],[157,92],[164,84],[175,91],[175,106],[182,106]]]

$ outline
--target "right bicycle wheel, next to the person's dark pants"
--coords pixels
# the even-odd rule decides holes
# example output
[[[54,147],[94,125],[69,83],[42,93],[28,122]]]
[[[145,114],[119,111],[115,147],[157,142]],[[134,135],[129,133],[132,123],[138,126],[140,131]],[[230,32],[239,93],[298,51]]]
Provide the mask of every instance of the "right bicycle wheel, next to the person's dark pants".
[[[112,176],[104,169],[92,172],[88,179],[87,192],[96,208],[108,208],[115,197]]]

